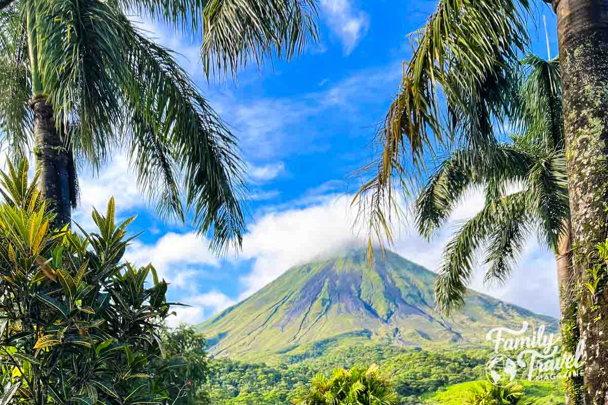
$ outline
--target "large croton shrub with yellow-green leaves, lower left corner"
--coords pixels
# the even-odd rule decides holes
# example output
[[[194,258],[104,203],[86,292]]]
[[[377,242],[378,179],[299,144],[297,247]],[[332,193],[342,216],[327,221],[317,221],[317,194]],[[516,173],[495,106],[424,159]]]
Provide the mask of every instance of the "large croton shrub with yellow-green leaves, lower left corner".
[[[39,173],[28,183],[27,172],[25,160],[0,172],[4,395],[16,390],[11,403],[36,405],[169,401],[166,373],[182,363],[164,359],[167,283],[152,265],[122,260],[134,217],[116,224],[111,199],[105,216],[92,213],[97,233],[52,230]]]

